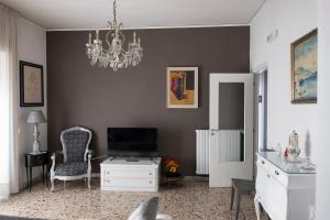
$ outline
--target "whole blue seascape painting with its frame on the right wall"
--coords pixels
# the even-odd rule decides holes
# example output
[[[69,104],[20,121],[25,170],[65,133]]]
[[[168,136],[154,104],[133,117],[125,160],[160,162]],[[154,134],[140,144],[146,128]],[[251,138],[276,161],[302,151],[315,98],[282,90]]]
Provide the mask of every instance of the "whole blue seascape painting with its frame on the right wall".
[[[318,31],[292,44],[292,103],[317,102]]]

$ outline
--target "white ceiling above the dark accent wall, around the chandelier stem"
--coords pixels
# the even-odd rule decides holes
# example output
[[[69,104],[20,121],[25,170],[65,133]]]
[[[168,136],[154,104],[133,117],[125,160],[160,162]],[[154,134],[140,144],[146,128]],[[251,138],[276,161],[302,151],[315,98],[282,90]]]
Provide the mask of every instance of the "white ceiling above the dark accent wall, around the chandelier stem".
[[[248,24],[265,0],[118,0],[124,28]],[[0,0],[47,29],[103,29],[112,0]]]

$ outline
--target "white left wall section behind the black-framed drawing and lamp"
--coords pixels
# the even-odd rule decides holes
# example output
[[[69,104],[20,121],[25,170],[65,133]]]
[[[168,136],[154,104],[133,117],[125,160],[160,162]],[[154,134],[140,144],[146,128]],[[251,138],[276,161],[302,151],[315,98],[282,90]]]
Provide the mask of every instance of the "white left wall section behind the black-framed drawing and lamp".
[[[32,151],[33,125],[26,123],[29,111],[42,110],[47,118],[47,85],[46,85],[46,32],[43,28],[23,19],[19,19],[18,24],[18,59],[43,65],[44,68],[44,107],[19,107],[18,109],[18,145],[20,148],[20,186],[26,185],[26,174],[24,164],[24,154]],[[19,63],[18,63],[19,65]],[[18,68],[18,72],[20,69]],[[19,73],[18,73],[19,74]],[[19,85],[18,85],[19,89]],[[19,102],[19,100],[18,100]],[[47,127],[40,125],[40,141],[43,150],[47,146]],[[41,168],[34,168],[34,177],[40,175]]]

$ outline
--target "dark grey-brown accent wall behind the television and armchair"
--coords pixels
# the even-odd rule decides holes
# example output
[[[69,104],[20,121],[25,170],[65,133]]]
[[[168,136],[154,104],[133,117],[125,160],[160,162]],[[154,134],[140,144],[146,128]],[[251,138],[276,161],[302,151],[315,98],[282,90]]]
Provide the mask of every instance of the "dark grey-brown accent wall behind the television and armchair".
[[[124,31],[131,36],[131,31]],[[96,156],[107,153],[108,127],[158,128],[162,156],[177,157],[194,175],[195,130],[209,124],[209,73],[250,70],[250,28],[139,30],[144,56],[113,72],[90,66],[87,31],[47,32],[48,150],[61,150],[65,128],[95,132]],[[166,108],[166,67],[199,67],[199,108]],[[99,169],[95,161],[94,172]]]

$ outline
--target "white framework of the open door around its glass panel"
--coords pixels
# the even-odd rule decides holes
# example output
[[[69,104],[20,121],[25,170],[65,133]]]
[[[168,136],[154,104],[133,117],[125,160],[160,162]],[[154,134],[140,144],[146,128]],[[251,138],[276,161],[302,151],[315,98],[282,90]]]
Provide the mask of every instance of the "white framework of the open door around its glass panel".
[[[219,82],[244,84],[244,161],[223,162],[217,164],[217,148],[212,146],[210,136],[209,184],[210,187],[230,187],[231,178],[253,179],[253,74],[246,73],[211,73],[210,74],[210,109],[209,125],[212,131],[219,130]]]

